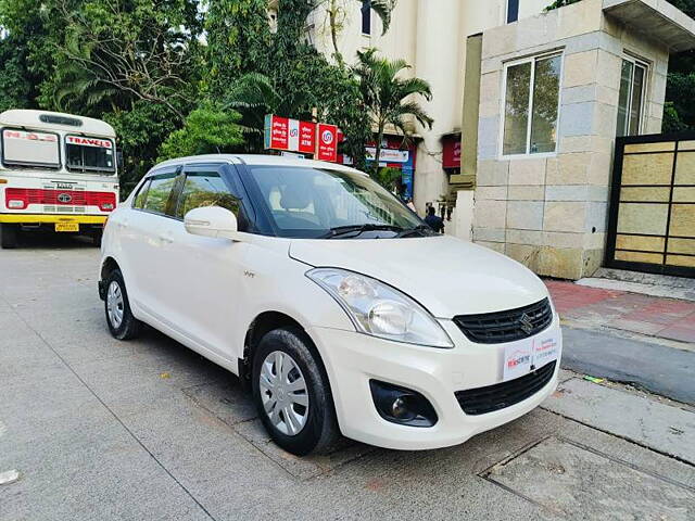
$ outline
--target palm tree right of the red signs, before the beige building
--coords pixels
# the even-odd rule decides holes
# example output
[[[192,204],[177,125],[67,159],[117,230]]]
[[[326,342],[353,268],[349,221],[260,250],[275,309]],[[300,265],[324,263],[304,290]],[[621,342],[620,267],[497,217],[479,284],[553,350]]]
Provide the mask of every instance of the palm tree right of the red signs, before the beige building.
[[[381,141],[387,125],[393,125],[407,136],[406,118],[414,117],[424,127],[432,128],[433,119],[419,103],[413,100],[421,96],[432,99],[430,85],[421,78],[401,78],[402,71],[410,68],[404,60],[389,60],[377,55],[376,49],[357,51],[357,65],[353,73],[359,82],[359,91],[372,122],[377,126],[377,147],[374,175],[379,170]]]

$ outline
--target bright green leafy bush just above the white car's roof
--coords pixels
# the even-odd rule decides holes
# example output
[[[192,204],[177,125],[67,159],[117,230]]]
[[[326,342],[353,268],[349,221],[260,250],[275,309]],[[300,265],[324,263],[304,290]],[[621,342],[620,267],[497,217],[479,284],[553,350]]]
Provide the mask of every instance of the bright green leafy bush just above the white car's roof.
[[[232,152],[243,143],[241,115],[205,103],[192,111],[184,127],[172,132],[162,143],[160,161],[187,155]]]

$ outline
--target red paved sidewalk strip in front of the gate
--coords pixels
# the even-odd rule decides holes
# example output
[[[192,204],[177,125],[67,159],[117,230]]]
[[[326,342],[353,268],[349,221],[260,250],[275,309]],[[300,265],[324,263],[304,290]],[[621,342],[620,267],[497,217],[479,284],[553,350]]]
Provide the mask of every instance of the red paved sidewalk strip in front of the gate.
[[[545,283],[560,317],[572,326],[607,327],[695,344],[695,302],[558,280],[546,280]]]

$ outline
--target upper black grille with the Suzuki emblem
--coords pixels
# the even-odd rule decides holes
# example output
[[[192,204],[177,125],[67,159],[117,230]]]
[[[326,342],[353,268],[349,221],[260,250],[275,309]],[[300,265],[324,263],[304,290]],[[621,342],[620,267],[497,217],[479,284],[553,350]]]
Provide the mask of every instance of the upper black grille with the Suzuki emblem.
[[[507,312],[454,317],[454,322],[464,334],[479,344],[500,344],[528,339],[543,331],[552,321],[553,310],[547,298]]]

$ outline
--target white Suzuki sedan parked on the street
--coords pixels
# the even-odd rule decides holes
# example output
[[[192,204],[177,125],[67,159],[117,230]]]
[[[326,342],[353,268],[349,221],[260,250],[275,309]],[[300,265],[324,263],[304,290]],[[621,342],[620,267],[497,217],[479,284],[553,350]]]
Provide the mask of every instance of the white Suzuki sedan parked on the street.
[[[237,374],[296,455],[344,436],[462,443],[557,385],[543,282],[435,234],[367,175],[263,155],[157,165],[109,218],[99,282],[117,339],[142,322]]]

